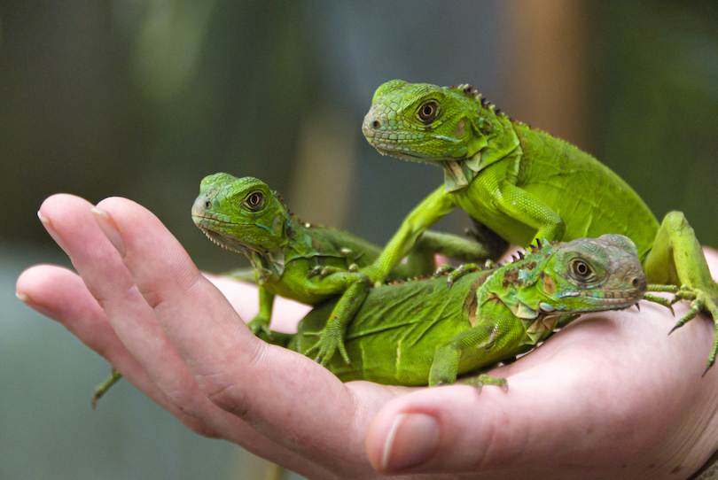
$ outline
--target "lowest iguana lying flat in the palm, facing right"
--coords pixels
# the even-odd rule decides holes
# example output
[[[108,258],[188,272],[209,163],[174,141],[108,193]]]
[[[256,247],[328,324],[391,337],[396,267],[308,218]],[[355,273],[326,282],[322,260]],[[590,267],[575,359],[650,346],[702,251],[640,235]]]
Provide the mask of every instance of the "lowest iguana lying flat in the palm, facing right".
[[[646,278],[626,236],[581,238],[531,247],[504,267],[374,288],[347,327],[351,367],[338,357],[327,368],[340,380],[426,385],[455,383],[457,375],[527,352],[557,324],[578,314],[620,310],[644,298]],[[285,346],[312,347],[334,302],[316,306]],[[280,335],[280,334],[276,334]],[[278,340],[278,337],[275,337]],[[504,379],[480,375],[480,388]]]

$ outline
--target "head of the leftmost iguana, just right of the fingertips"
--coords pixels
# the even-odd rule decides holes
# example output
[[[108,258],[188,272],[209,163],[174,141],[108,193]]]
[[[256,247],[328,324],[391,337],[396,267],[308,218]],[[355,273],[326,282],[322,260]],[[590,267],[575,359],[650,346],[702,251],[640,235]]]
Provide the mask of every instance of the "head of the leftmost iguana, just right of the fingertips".
[[[209,175],[192,205],[192,221],[210,240],[247,255],[284,247],[286,219],[277,194],[253,177]]]

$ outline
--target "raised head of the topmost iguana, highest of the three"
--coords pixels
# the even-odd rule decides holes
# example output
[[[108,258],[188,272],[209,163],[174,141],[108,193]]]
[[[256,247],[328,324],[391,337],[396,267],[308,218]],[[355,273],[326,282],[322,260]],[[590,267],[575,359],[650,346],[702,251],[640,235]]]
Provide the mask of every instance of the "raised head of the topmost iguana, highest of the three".
[[[507,120],[497,113],[470,85],[393,80],[374,93],[362,131],[382,155],[442,166],[457,190],[518,147],[513,132],[501,135]]]

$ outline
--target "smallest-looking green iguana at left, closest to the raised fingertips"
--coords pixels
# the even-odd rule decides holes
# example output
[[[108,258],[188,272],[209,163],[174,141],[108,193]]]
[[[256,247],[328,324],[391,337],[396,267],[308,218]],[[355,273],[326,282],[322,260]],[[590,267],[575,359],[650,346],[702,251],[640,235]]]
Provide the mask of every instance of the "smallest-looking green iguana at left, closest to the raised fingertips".
[[[379,257],[379,246],[334,228],[302,223],[289,213],[276,192],[252,177],[213,174],[202,180],[199,189],[199,197],[192,205],[192,220],[215,244],[244,253],[254,267],[260,309],[248,323],[253,333],[273,335],[269,321],[276,295],[308,305],[338,297],[322,329],[305,333],[319,339],[303,352],[316,354],[316,360],[325,365],[339,348],[342,359],[348,362],[344,331],[371,289],[371,282],[358,269]],[[488,256],[483,245],[426,231],[407,263],[397,265],[387,279],[433,274],[435,253],[460,261]],[[98,385],[93,407],[120,378],[121,374],[113,370]]]

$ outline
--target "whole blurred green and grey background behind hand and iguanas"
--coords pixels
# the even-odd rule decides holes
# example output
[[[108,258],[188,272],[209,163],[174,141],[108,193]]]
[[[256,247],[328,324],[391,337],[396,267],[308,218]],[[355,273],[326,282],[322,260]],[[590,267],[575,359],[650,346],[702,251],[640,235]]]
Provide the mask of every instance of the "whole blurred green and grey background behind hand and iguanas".
[[[714,3],[0,0],[0,478],[261,478],[129,383],[90,410],[105,361],[13,296],[23,268],[67,264],[35,212],[61,191],[129,197],[219,271],[246,262],[189,211],[224,171],[383,244],[443,178],[363,139],[394,78],[472,83],[718,246]]]

